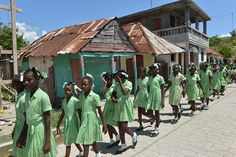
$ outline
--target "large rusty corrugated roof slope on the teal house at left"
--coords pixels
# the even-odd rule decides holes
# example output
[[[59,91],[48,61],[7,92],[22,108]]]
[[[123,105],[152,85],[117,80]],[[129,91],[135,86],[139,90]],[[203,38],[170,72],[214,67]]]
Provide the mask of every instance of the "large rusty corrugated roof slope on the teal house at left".
[[[19,58],[77,53],[115,18],[89,21],[49,32],[18,53]],[[96,50],[96,49],[95,49]]]

